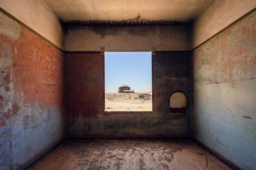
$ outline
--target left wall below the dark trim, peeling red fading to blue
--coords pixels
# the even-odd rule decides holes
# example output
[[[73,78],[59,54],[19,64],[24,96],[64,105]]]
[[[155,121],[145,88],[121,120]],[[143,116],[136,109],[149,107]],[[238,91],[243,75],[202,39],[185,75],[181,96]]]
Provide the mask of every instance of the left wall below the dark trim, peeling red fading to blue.
[[[62,140],[63,52],[0,12],[0,169]]]

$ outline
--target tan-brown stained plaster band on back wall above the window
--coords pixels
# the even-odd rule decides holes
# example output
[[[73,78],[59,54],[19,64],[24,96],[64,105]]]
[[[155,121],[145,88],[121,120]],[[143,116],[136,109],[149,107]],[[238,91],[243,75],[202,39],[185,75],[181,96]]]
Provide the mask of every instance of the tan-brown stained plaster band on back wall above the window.
[[[70,28],[65,50],[107,52],[189,51],[189,28],[181,26],[86,26]]]

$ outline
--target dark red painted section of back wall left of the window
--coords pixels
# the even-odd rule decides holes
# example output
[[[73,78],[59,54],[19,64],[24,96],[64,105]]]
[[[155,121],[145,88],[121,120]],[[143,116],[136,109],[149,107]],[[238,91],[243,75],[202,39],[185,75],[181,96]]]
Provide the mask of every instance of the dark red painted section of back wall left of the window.
[[[97,118],[104,111],[104,55],[66,54],[66,98],[68,125],[78,117]]]

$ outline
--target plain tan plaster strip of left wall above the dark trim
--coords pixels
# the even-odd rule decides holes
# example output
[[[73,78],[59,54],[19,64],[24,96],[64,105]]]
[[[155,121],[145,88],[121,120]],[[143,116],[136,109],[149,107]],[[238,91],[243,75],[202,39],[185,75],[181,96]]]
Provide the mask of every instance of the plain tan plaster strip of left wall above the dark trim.
[[[0,7],[63,49],[63,31],[58,17],[43,0],[0,0]]]

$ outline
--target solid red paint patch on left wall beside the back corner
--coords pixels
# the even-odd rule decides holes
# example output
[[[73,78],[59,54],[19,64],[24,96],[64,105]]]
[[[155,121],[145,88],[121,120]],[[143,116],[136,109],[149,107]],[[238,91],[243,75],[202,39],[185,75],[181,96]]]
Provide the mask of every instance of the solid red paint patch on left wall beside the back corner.
[[[15,69],[21,76],[26,94],[24,103],[38,102],[40,108],[56,106],[62,109],[63,52],[30,30],[23,29],[23,57]],[[16,73],[16,70],[14,70]],[[14,86],[14,89],[21,86]]]

